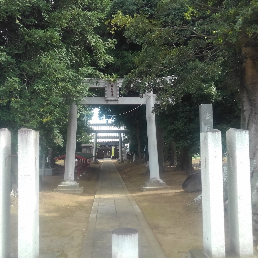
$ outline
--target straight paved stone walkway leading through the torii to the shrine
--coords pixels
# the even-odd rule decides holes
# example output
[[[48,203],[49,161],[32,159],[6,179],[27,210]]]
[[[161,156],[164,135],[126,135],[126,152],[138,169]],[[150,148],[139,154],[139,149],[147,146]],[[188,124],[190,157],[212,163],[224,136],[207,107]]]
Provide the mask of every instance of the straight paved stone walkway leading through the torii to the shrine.
[[[111,231],[138,230],[139,258],[166,258],[111,160],[104,160],[81,258],[112,258]]]

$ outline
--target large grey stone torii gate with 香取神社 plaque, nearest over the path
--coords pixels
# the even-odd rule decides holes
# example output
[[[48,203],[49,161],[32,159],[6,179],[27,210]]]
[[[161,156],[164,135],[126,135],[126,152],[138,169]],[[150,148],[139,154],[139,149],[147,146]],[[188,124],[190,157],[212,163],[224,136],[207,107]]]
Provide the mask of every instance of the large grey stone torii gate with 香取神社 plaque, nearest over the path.
[[[173,79],[174,76],[166,77],[167,80]],[[105,88],[105,97],[84,97],[81,102],[83,105],[132,105],[143,104],[146,106],[146,120],[147,120],[147,136],[149,149],[149,168],[150,179],[145,182],[145,186],[141,186],[143,191],[168,189],[166,183],[159,177],[158,166],[158,152],[157,152],[157,138],[155,113],[152,109],[155,103],[155,95],[153,92],[146,92],[139,97],[119,97],[119,87],[122,86],[124,79],[118,79],[115,83],[110,83],[104,80],[87,79],[84,82],[90,88]],[[76,145],[76,128],[77,128],[77,106],[72,103],[69,108],[68,115],[68,129],[67,129],[67,144],[66,144],[66,167],[64,182],[60,183],[60,188],[64,187],[79,187],[78,183],[74,181],[74,162],[75,162],[75,145]],[[94,144],[95,145],[95,144]],[[94,150],[95,149],[95,150]],[[94,148],[93,155],[96,155],[96,148]]]

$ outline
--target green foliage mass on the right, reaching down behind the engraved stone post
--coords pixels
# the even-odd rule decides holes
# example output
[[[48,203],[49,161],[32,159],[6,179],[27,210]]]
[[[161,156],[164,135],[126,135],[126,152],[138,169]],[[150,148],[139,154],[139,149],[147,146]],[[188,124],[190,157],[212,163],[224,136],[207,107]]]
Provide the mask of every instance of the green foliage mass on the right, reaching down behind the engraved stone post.
[[[247,8],[248,1],[244,2]],[[128,43],[141,47],[123,91],[130,91],[132,85],[142,94],[154,89],[160,107],[166,108],[159,111],[158,119],[165,140],[175,140],[178,148],[189,146],[191,154],[199,152],[199,104],[214,104],[214,126],[223,135],[230,126],[239,127],[243,28],[232,24],[244,11],[244,2],[131,1],[134,8],[117,9],[109,22],[111,33],[122,31]],[[256,12],[254,2],[249,8]],[[254,33],[253,29],[249,35]],[[163,78],[171,75],[175,76],[169,81]],[[174,106],[167,106],[168,98]]]

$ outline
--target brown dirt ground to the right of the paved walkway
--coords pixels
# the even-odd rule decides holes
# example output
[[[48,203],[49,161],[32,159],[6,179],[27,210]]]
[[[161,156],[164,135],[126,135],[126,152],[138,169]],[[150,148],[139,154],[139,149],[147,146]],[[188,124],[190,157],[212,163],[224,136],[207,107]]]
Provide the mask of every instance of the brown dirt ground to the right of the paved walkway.
[[[199,160],[193,160],[193,163],[199,164]],[[182,190],[187,174],[165,166],[166,171],[160,174],[160,178],[171,189],[141,192],[140,185],[149,179],[147,175],[141,176],[146,166],[137,163],[115,165],[167,258],[185,258],[189,249],[203,248],[200,207],[199,204],[190,204],[200,192]]]

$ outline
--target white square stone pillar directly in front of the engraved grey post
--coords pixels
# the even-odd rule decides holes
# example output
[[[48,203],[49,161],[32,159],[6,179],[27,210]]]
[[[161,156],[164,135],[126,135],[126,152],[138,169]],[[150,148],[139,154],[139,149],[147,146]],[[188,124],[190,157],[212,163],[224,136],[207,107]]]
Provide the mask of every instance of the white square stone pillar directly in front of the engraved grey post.
[[[210,258],[225,257],[221,132],[200,133],[203,247]]]

